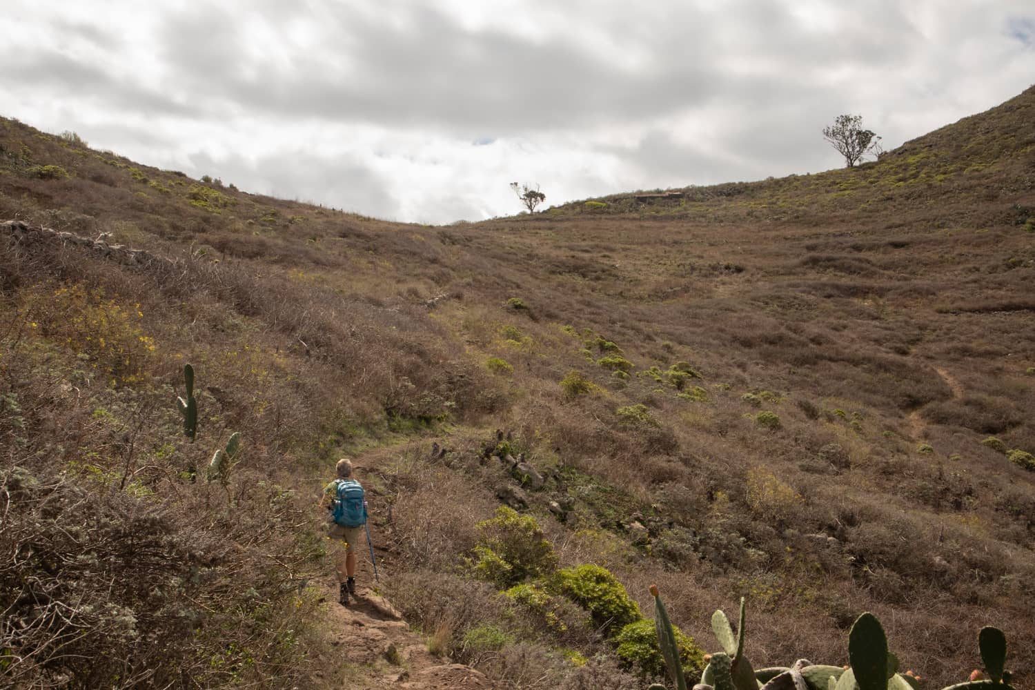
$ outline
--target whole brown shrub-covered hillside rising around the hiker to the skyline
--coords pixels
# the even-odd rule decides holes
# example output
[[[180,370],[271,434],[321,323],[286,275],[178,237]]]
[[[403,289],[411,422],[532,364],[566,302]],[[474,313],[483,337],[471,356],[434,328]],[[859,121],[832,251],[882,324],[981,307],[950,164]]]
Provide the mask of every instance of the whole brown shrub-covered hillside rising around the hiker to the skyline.
[[[747,597],[759,667],[848,663],[871,610],[933,688],[1003,628],[1024,687],[1033,122],[1035,88],[855,169],[421,227],[0,120],[0,219],[71,234],[4,231],[0,673],[381,678],[323,600],[315,504],[349,455],[377,591],[510,687],[646,686],[572,594],[590,563],[706,651]],[[482,522],[503,503],[535,523]]]

